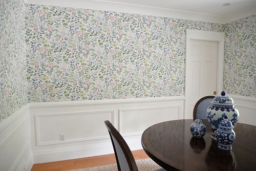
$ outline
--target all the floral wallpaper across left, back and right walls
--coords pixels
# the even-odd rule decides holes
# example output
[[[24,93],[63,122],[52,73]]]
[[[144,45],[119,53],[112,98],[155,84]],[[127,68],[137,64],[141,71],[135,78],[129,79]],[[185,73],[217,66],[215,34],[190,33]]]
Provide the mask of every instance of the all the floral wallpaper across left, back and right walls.
[[[255,18],[221,25],[0,1],[0,122],[28,102],[184,95],[186,29],[225,32],[224,90],[256,97]]]

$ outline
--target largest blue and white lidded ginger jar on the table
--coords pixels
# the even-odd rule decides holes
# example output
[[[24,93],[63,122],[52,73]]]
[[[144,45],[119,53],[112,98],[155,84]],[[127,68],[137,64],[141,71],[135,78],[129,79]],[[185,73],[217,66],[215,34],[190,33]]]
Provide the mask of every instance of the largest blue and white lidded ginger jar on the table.
[[[219,128],[219,124],[225,115],[230,118],[233,126],[236,126],[239,119],[239,112],[234,108],[235,103],[233,99],[225,95],[224,91],[221,92],[221,96],[216,96],[211,102],[212,105],[207,109],[207,119],[213,132],[211,139],[216,141],[216,130]]]

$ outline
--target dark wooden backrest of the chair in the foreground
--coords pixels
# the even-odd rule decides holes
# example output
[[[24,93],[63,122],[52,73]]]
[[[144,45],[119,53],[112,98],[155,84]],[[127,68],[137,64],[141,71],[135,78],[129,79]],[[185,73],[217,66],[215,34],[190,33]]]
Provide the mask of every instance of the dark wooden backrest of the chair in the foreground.
[[[131,149],[124,141],[123,137],[110,123],[109,120],[104,121],[109,130],[110,138],[113,144],[118,171],[138,171]]]

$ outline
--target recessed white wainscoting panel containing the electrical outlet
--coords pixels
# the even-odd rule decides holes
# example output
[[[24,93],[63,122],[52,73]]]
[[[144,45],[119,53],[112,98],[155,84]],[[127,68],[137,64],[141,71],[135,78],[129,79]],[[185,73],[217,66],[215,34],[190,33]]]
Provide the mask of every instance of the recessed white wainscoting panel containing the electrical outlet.
[[[114,124],[114,111],[91,111],[35,115],[37,145],[108,138],[104,120]],[[65,140],[60,140],[61,134]]]

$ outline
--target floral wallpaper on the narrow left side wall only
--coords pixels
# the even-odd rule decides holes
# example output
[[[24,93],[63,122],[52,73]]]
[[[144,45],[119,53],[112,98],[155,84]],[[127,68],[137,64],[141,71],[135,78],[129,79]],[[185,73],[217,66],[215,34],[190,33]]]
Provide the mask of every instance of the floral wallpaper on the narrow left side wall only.
[[[0,1],[0,122],[27,104],[25,3]]]

